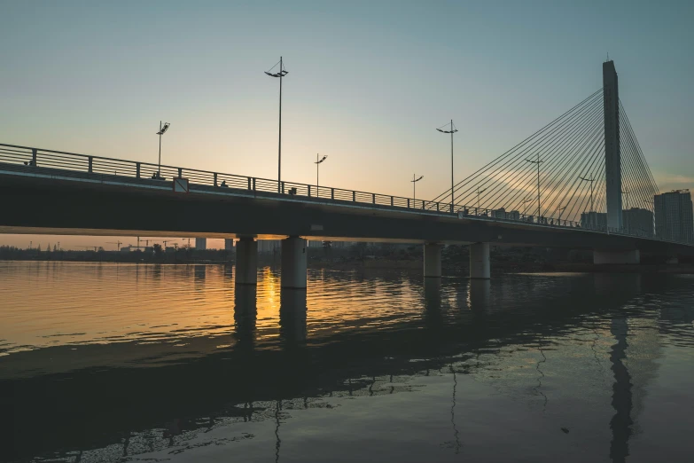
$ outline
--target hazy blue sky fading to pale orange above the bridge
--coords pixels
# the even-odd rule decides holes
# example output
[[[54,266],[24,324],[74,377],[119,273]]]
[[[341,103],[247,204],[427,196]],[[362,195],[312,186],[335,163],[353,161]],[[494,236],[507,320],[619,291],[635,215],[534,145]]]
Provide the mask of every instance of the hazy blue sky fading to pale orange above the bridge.
[[[0,0],[0,143],[417,197],[492,160],[602,86],[661,191],[694,187],[694,2]],[[27,246],[30,239],[0,237]],[[63,237],[70,244],[113,241]]]

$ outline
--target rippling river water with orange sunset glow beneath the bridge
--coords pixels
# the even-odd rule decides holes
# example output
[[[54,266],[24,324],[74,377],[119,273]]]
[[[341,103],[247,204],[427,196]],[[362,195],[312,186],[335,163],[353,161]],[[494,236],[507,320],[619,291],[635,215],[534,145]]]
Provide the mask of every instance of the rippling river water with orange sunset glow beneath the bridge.
[[[694,278],[0,263],[2,461],[690,461]]]

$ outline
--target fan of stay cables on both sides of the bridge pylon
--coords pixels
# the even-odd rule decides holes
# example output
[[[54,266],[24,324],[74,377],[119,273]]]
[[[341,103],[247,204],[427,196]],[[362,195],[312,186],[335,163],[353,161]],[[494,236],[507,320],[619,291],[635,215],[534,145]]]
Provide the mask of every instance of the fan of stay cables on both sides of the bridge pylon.
[[[626,209],[643,208],[652,214],[658,185],[621,102],[619,120],[620,200]],[[604,91],[600,89],[458,182],[454,209],[472,215],[505,212],[518,219],[540,217],[542,223],[561,224],[585,222],[581,221],[584,213],[607,214],[604,140]],[[450,196],[447,190],[433,201]],[[601,228],[597,223],[582,225]],[[602,228],[606,231],[607,226]],[[652,229],[631,232],[652,234]]]

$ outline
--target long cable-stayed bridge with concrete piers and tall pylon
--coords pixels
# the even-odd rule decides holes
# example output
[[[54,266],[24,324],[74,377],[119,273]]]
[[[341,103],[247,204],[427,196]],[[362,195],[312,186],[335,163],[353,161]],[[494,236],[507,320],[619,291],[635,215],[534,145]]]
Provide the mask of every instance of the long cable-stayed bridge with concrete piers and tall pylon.
[[[0,232],[238,239],[236,281],[248,285],[257,239],[282,239],[283,287],[306,287],[306,239],[424,243],[433,278],[450,243],[470,245],[474,279],[489,278],[490,245],[590,249],[595,263],[694,255],[694,243],[653,236],[658,187],[612,61],[603,75],[602,89],[433,200],[0,144]],[[625,211],[624,195],[641,208]],[[625,220],[633,209],[651,226]]]

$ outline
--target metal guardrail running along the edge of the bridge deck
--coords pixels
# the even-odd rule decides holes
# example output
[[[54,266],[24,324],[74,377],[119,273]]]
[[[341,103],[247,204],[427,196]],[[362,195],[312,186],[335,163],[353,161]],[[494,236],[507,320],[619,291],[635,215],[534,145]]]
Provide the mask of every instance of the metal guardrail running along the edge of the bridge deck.
[[[149,178],[168,184],[171,184],[175,177],[185,177],[188,178],[192,185],[204,185],[220,189],[230,188],[252,192],[276,193],[279,195],[291,195],[292,197],[305,197],[307,199],[331,200],[339,203],[351,202],[359,205],[422,211],[426,214],[438,216],[491,219],[517,224],[523,223],[546,227],[573,228],[589,232],[604,232],[628,237],[656,239],[678,244],[693,244],[672,239],[660,239],[649,236],[645,232],[625,231],[601,226],[585,226],[570,220],[529,216],[526,214],[519,214],[515,211],[505,212],[498,209],[476,208],[457,204],[451,208],[451,204],[446,202],[415,200],[381,193],[359,192],[356,190],[344,190],[329,186],[317,186],[315,184],[299,184],[286,181],[278,182],[277,180],[270,180],[268,178],[237,176],[208,170],[183,169],[164,165],[159,167],[157,164],[149,162],[127,161],[101,156],[90,156],[88,154],[43,150],[29,146],[0,144],[0,162],[96,175]]]

